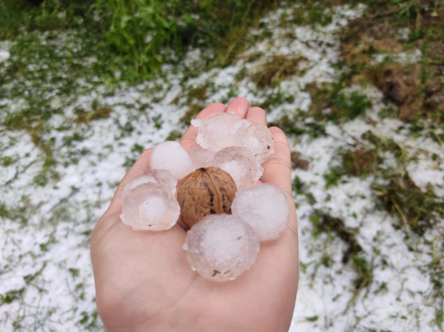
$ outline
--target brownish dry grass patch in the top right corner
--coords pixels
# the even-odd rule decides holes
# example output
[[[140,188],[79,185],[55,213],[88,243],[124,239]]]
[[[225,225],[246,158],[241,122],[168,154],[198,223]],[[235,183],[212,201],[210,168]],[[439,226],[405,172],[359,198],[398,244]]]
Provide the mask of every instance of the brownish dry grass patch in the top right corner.
[[[398,117],[405,122],[420,118],[444,121],[441,91],[444,83],[444,5],[440,1],[370,1],[366,15],[345,30],[341,53],[354,73],[350,80],[371,82],[389,101],[399,105]],[[400,28],[408,28],[400,40]],[[433,45],[433,46],[431,46]],[[419,49],[418,64],[400,64],[391,55]],[[387,54],[382,64],[375,55]]]

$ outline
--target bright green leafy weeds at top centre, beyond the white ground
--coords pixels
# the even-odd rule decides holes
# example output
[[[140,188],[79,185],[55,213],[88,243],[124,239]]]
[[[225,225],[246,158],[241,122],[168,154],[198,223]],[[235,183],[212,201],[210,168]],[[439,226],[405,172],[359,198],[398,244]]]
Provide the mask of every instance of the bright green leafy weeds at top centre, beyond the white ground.
[[[143,77],[173,60],[169,50],[180,56],[190,44],[214,49],[216,62],[227,64],[242,49],[246,27],[257,26],[260,14],[277,3],[97,0],[92,8],[103,12],[112,50],[133,67],[135,76]]]

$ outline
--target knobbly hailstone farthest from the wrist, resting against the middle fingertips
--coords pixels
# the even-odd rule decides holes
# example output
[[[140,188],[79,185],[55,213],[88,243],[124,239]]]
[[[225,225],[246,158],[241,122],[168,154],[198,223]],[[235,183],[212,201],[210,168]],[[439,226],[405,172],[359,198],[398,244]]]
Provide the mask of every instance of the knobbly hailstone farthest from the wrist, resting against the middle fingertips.
[[[205,149],[219,151],[235,146],[234,133],[239,129],[241,118],[234,113],[218,113],[208,118],[191,120],[198,127],[196,142]]]

